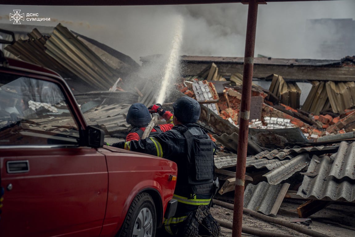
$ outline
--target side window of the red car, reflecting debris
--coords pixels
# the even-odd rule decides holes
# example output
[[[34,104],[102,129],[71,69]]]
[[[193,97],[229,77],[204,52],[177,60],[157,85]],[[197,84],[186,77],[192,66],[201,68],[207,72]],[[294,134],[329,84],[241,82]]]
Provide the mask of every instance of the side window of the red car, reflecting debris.
[[[0,145],[75,145],[78,130],[58,85],[0,73]]]

